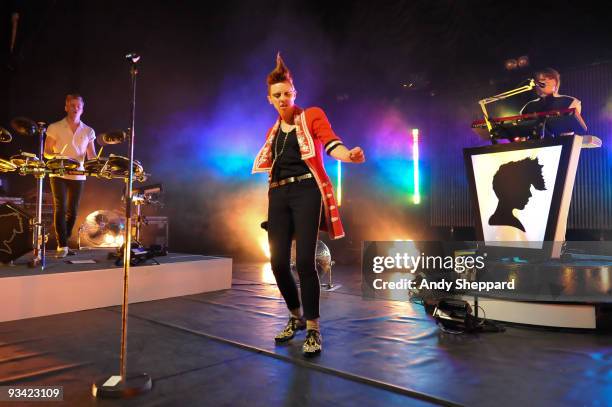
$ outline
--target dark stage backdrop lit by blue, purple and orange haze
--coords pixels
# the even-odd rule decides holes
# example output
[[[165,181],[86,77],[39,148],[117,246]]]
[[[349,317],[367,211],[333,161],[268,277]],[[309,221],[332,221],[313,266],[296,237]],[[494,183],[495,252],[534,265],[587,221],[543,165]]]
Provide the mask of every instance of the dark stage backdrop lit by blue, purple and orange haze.
[[[582,207],[573,204],[570,233],[603,236],[612,229],[606,144],[612,21],[597,4],[3,2],[0,125],[16,116],[60,120],[65,94],[78,92],[85,98],[83,121],[97,132],[127,127],[123,56],[137,51],[136,158],[152,174],[149,183],[164,184],[166,206],[158,213],[170,218],[171,249],[260,256],[265,176],[251,176],[250,169],[275,119],[265,75],[281,51],[298,104],[323,107],[345,143],[366,150],[366,164],[343,167],[348,238],[332,246],[351,253],[361,240],[447,238],[451,227],[455,237],[463,230],[469,238],[461,149],[485,144],[469,129],[481,116],[476,101],[552,66],[562,73],[561,93],[583,101],[591,133],[604,141],[581,160],[575,194]],[[10,52],[13,12],[20,19]],[[505,71],[504,60],[520,55],[531,66]],[[515,113],[531,98],[521,95],[493,113]],[[406,194],[407,135],[414,127],[422,134],[421,205]],[[0,146],[0,157],[35,146],[16,138]],[[106,153],[127,155],[127,148],[105,147]],[[328,163],[332,176],[333,167]],[[33,192],[32,178],[0,178],[11,196]],[[93,210],[120,207],[121,189],[120,181],[89,179],[77,224]]]

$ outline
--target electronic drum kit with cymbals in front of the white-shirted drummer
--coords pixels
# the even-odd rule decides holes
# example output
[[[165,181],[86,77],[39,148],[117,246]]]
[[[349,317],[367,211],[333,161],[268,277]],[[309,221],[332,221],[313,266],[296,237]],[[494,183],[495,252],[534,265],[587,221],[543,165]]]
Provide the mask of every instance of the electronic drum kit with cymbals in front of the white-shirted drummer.
[[[25,117],[18,117],[11,120],[11,127],[20,136],[39,138],[39,154],[21,152],[11,156],[9,159],[0,158],[0,172],[15,172],[19,175],[32,175],[37,181],[37,205],[36,217],[33,220],[33,247],[34,258],[29,262],[30,267],[45,267],[45,245],[43,239],[45,236],[44,225],[42,223],[42,189],[43,180],[46,176],[64,176],[64,175],[86,175],[102,179],[123,179],[128,182],[130,175],[130,159],[124,156],[110,154],[108,157],[98,157],[87,160],[81,163],[70,157],[55,155],[49,160],[44,160],[44,138],[47,125],[44,122],[34,122]],[[102,144],[118,144],[124,139],[116,137],[107,137],[107,135],[115,135],[123,132],[103,133],[98,140]],[[2,134],[10,133],[2,128]],[[7,137],[10,142],[9,137]],[[102,149],[100,149],[100,153]],[[150,174],[145,173],[142,164],[139,161],[133,160],[133,179],[138,182],[144,182]]]

